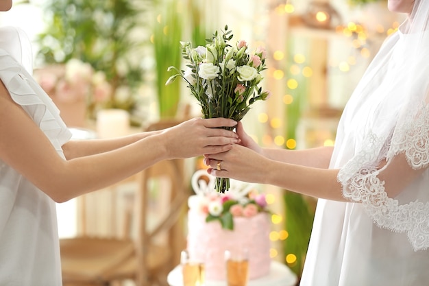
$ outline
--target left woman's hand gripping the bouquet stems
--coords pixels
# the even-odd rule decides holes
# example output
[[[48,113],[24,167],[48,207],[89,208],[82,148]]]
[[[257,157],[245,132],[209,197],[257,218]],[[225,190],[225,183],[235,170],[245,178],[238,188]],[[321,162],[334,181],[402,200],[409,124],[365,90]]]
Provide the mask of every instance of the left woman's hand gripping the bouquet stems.
[[[236,121],[225,118],[194,118],[163,130],[169,158],[190,158],[202,154],[217,154],[238,143],[235,132],[221,127],[234,127]]]

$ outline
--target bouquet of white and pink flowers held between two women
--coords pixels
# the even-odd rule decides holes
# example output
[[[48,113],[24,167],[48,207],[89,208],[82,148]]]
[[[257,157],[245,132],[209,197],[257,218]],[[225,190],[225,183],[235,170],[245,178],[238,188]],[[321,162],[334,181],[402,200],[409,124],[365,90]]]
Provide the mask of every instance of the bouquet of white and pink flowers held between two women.
[[[261,71],[264,71],[267,54],[262,47],[250,52],[245,40],[230,45],[232,31],[225,25],[221,33],[215,32],[204,47],[193,47],[182,42],[182,56],[186,70],[169,67],[171,75],[166,84],[178,76],[186,81],[198,100],[204,118],[225,117],[240,121],[254,102],[269,98],[262,91]],[[232,128],[233,129],[233,128]],[[224,193],[230,189],[228,178],[217,178],[215,189]]]

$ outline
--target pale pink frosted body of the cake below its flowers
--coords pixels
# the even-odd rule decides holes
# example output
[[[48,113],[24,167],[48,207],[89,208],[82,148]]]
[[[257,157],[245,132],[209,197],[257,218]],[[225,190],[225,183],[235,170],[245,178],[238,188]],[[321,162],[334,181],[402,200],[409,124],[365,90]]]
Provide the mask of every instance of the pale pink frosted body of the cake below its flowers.
[[[219,221],[206,222],[206,215],[188,212],[188,252],[190,257],[204,261],[206,280],[225,280],[225,250],[249,250],[249,279],[269,273],[269,215],[235,217],[234,230],[221,228]]]

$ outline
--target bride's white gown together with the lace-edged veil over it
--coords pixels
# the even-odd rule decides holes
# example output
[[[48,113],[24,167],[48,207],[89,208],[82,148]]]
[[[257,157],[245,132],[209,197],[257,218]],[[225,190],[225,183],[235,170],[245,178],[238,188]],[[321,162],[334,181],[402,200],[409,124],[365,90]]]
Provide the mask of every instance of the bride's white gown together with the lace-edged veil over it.
[[[391,36],[343,112],[330,168],[341,169],[343,195],[354,202],[319,200],[301,286],[429,285],[429,110],[421,104],[428,102],[425,33]],[[409,75],[406,51],[421,38],[421,64]],[[401,152],[424,171],[400,195],[387,198],[376,166]],[[407,179],[397,171],[389,176]]]

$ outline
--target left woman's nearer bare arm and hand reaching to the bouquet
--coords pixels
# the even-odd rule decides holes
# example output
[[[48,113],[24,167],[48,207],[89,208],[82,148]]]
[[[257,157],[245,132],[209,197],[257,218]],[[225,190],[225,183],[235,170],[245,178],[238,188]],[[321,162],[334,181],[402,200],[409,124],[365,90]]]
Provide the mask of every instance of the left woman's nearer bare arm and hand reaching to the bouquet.
[[[117,145],[87,147],[74,155],[66,150],[71,159],[64,160],[0,84],[0,159],[56,202],[107,187],[159,160],[225,152],[236,143],[236,134],[215,127],[234,124],[230,119],[191,119],[151,136],[116,141],[125,144],[117,149]],[[108,149],[112,150],[102,152]],[[101,153],[84,156],[95,151]]]

